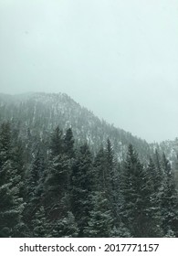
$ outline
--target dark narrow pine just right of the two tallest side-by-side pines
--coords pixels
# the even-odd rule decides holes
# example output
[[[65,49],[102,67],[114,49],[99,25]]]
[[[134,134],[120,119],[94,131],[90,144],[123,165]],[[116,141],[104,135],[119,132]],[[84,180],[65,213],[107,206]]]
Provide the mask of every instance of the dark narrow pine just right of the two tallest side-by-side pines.
[[[88,144],[79,148],[72,167],[71,175],[71,209],[79,227],[79,237],[83,237],[83,229],[88,226],[91,209],[90,193],[94,187],[92,155]]]

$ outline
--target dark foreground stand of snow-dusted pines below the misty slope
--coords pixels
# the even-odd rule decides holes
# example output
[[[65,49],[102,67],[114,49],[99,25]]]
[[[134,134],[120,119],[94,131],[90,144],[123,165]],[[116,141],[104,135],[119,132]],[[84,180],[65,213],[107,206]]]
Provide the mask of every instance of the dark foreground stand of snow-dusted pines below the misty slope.
[[[39,134],[42,123],[32,119],[27,134],[15,121],[1,125],[1,237],[178,237],[165,155],[143,165],[130,144],[119,161],[110,139],[96,152],[75,143],[71,128]]]

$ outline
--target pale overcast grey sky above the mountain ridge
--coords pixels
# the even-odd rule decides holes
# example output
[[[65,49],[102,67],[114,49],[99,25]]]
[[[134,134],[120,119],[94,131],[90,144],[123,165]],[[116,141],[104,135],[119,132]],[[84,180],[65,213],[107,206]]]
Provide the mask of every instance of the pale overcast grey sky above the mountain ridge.
[[[0,92],[66,92],[149,142],[178,136],[177,0],[1,0]]]

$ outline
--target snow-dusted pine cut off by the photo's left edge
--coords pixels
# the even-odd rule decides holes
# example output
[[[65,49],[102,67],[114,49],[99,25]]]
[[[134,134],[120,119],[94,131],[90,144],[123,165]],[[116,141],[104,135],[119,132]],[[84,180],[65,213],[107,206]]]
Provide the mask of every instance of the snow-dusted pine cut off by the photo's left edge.
[[[12,161],[10,123],[3,123],[0,129],[0,236],[16,236],[20,227],[24,208],[23,198],[19,197],[16,168]]]

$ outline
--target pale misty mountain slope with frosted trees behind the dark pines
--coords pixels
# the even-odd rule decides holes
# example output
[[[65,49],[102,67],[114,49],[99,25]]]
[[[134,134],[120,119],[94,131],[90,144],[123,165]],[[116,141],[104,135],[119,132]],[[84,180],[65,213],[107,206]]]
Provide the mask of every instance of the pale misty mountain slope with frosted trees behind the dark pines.
[[[157,148],[175,160],[178,152],[177,139],[161,144],[148,144],[110,123],[100,120],[93,112],[81,107],[79,103],[64,93],[29,92],[17,95],[0,94],[0,122],[11,120],[18,123],[21,133],[27,129],[32,135],[46,137],[55,127],[63,131],[72,127],[79,144],[89,143],[97,152],[99,147],[110,142],[119,159],[126,154],[128,144],[133,144],[141,159],[145,161]]]

